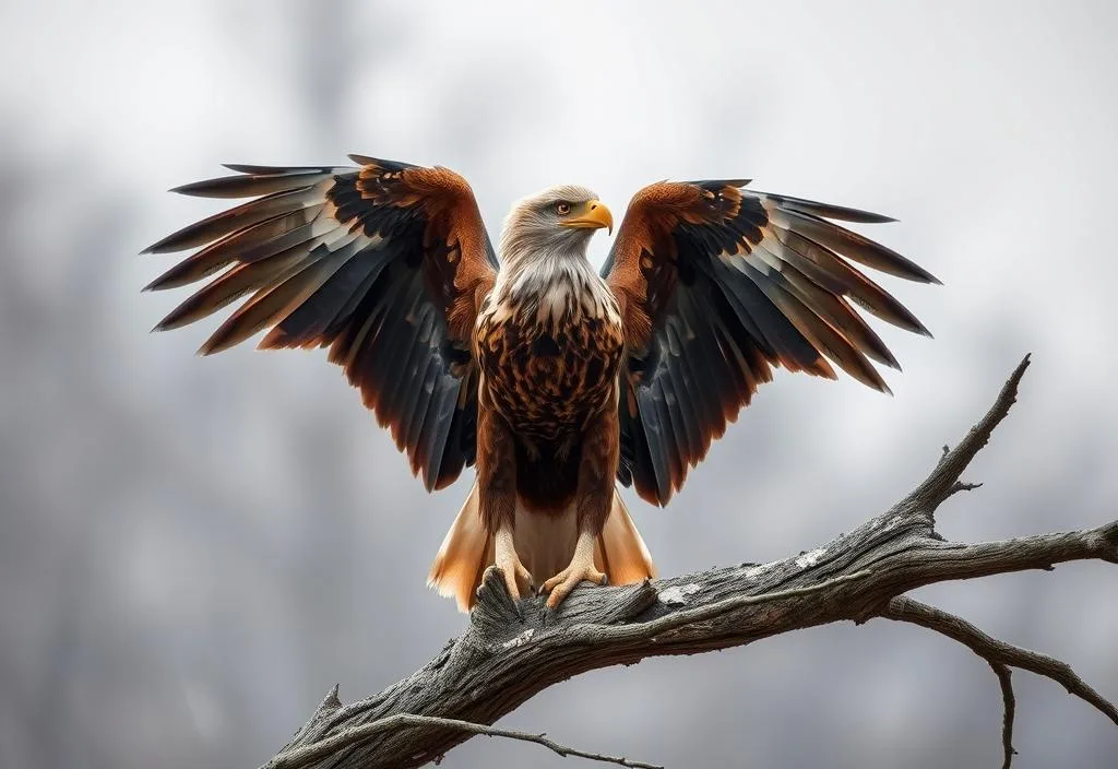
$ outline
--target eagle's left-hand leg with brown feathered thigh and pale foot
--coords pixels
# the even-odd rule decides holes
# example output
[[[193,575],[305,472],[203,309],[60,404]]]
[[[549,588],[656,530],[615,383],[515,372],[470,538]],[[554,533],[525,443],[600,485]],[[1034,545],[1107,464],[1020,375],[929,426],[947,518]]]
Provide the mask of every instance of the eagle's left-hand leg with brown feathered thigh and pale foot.
[[[513,600],[531,592],[532,576],[520,562],[512,540],[517,520],[517,453],[512,429],[489,402],[477,409],[477,505],[493,537],[494,566],[504,575]]]

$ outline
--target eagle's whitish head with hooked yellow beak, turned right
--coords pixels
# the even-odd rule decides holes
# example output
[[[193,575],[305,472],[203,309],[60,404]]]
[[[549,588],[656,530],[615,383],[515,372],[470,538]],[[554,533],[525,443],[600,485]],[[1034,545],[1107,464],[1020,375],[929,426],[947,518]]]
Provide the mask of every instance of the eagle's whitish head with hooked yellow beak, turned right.
[[[594,230],[613,231],[614,218],[591,190],[577,184],[549,187],[512,207],[501,232],[501,260],[586,256]]]

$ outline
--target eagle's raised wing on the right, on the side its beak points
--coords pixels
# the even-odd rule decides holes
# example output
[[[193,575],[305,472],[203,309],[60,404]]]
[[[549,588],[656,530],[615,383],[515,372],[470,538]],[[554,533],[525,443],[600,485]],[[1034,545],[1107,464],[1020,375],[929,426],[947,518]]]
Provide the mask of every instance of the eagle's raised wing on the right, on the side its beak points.
[[[622,305],[618,478],[665,504],[771,365],[835,378],[826,359],[888,391],[870,363],[897,368],[853,302],[927,330],[849,262],[938,283],[901,255],[828,219],[865,211],[765,192],[747,181],[660,182],[633,198],[603,268]],[[824,358],[826,357],[826,359]]]

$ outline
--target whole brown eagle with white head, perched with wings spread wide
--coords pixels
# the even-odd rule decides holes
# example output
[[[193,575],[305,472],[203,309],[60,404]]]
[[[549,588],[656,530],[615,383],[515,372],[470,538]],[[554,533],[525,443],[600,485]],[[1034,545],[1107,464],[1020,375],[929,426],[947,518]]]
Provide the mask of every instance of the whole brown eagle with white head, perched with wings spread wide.
[[[666,505],[774,367],[889,391],[899,369],[854,306],[930,335],[856,265],[939,283],[839,224],[893,219],[748,179],[661,181],[613,232],[591,190],[517,202],[500,259],[458,173],[364,155],[356,165],[227,164],[173,192],[250,198],[145,253],[195,249],[146,289],[212,277],[155,330],[247,298],[202,344],[329,348],[428,492],[475,481],[428,585],[468,611],[496,566],[558,607],[580,582],[655,577],[619,496]]]

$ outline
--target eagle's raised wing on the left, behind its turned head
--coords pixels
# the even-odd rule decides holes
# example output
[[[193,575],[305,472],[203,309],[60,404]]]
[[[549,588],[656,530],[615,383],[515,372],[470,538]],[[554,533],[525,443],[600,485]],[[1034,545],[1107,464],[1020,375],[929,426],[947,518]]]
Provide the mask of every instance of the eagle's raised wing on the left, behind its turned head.
[[[148,288],[206,284],[157,326],[192,323],[252,294],[202,345],[264,329],[262,349],[330,346],[428,490],[475,456],[471,334],[496,257],[466,181],[442,168],[350,155],[361,168],[229,165],[176,191],[255,200],[148,251],[203,246]],[[258,197],[259,196],[259,197]]]

